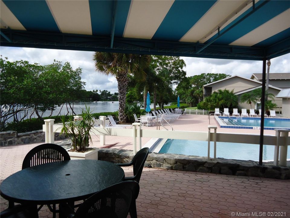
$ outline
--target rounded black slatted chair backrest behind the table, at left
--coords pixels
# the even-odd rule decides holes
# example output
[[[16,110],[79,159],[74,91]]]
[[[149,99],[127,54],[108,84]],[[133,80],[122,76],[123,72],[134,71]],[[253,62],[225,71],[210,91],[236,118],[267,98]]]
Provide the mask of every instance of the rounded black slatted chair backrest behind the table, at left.
[[[56,144],[42,144],[31,149],[24,157],[22,170],[43,163],[70,160],[67,151]]]

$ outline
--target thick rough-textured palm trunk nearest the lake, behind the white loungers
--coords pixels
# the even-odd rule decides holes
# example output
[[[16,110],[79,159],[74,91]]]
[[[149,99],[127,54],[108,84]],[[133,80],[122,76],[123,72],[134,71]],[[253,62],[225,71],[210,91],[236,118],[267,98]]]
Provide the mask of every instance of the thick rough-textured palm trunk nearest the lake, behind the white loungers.
[[[119,92],[119,121],[126,123],[125,104],[128,78],[126,72],[119,72],[118,77],[118,92]]]

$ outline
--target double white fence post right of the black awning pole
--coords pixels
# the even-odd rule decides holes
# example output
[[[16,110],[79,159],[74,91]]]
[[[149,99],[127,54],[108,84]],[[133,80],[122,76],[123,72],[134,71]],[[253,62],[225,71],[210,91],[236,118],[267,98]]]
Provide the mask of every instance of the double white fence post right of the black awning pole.
[[[285,129],[275,129],[277,144],[274,150],[274,165],[284,166],[287,165],[287,148],[288,148],[288,134],[290,130]],[[280,150],[280,158],[279,158]]]

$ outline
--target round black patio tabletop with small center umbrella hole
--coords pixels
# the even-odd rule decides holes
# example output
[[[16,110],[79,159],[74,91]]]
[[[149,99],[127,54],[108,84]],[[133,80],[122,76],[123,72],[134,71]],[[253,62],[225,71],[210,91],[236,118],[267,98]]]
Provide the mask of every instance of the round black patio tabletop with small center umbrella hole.
[[[65,160],[29,167],[7,177],[0,194],[16,203],[58,204],[83,200],[124,180],[124,170],[101,160]]]

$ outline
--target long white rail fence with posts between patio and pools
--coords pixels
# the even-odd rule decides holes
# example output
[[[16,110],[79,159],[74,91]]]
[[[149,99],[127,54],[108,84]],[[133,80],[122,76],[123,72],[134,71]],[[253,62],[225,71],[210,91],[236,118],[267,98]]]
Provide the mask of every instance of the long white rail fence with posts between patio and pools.
[[[208,132],[197,131],[166,131],[142,129],[140,123],[132,124],[132,129],[118,129],[105,127],[105,116],[96,121],[101,127],[96,127],[91,130],[92,134],[100,135],[100,145],[105,145],[105,136],[124,136],[133,137],[133,153],[136,154],[141,149],[142,137],[146,138],[164,138],[164,139],[183,139],[183,140],[199,140],[199,141],[213,141],[214,142],[214,159],[216,158],[216,142],[231,142],[243,144],[259,144],[260,135],[258,134],[237,134],[237,133],[217,133],[216,126],[208,126]],[[45,132],[45,142],[54,143],[54,133],[60,132],[62,124],[54,124],[54,119],[44,120],[43,132]],[[214,129],[214,132],[211,132]],[[287,146],[290,142],[290,130],[276,129],[276,136],[264,135],[264,141],[267,145],[275,146],[274,164],[276,166],[286,166]],[[137,147],[138,141],[138,147]],[[208,159],[209,156],[208,147]],[[230,149],[230,147],[229,147]],[[280,151],[280,152],[279,152]],[[279,154],[279,155],[278,155]]]

